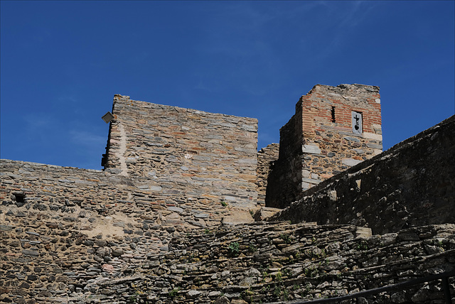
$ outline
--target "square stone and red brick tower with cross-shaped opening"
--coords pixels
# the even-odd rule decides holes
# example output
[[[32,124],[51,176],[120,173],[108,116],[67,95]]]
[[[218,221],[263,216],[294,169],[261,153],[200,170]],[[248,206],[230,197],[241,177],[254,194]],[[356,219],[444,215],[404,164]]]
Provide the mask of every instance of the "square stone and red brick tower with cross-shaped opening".
[[[286,207],[305,190],[381,151],[379,87],[316,85],[280,129],[266,205]]]

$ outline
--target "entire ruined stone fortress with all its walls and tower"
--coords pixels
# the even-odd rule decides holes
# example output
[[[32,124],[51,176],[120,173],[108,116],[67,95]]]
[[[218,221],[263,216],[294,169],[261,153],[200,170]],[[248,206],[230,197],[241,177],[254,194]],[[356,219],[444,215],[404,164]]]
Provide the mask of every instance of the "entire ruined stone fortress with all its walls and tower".
[[[450,303],[455,116],[380,153],[378,90],[316,85],[259,152],[115,95],[105,170],[0,161],[0,302]]]

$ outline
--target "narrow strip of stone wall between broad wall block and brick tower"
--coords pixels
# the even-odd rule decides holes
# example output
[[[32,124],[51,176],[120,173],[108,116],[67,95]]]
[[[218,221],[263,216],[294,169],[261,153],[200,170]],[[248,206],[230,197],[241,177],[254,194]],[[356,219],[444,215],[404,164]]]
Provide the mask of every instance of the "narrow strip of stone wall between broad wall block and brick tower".
[[[257,152],[257,201],[265,205],[270,168],[278,159],[279,144],[271,143]]]

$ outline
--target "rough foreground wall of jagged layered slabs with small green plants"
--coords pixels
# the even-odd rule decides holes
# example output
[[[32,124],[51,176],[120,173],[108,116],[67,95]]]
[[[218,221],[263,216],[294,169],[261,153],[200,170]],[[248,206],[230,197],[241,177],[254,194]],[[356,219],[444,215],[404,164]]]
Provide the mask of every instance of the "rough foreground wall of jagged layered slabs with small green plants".
[[[193,230],[172,239],[171,251],[149,256],[130,278],[93,284],[92,302],[246,304],[333,298],[454,271],[454,232],[454,225],[446,224],[372,237],[348,225],[287,222]],[[452,288],[454,283],[452,278]],[[343,303],[436,304],[442,299],[441,283],[432,281]]]

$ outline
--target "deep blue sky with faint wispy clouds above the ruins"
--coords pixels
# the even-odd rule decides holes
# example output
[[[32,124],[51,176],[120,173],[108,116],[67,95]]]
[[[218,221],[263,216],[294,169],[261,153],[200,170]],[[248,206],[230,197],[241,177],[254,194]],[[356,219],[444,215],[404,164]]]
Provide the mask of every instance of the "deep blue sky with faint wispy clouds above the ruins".
[[[100,169],[114,94],[259,119],[380,86],[384,148],[454,114],[455,1],[1,1],[0,156]]]

